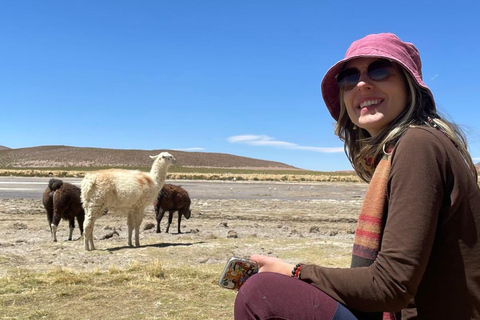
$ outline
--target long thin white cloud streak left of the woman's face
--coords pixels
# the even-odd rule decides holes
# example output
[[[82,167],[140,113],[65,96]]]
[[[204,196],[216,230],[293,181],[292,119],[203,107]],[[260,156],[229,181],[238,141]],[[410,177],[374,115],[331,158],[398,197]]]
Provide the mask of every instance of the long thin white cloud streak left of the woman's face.
[[[339,148],[322,148],[322,147],[308,147],[308,146],[299,146],[298,144],[278,141],[272,137],[265,135],[238,135],[232,136],[227,139],[231,143],[243,143],[251,146],[267,146],[267,147],[278,147],[283,149],[294,149],[294,150],[306,150],[313,152],[322,152],[322,153],[336,153],[343,152],[343,147]]]

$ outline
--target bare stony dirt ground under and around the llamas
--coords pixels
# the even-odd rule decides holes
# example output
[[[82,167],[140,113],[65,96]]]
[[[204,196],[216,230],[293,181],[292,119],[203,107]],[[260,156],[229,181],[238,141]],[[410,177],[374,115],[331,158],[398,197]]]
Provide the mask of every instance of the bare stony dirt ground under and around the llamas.
[[[244,190],[253,187],[246,184]],[[74,241],[67,241],[68,222],[64,220],[58,228],[58,242],[52,241],[40,199],[0,199],[0,276],[17,268],[41,271],[54,267],[76,270],[122,267],[131,261],[151,259],[151,250],[157,250],[154,254],[158,255],[170,254],[171,263],[185,259],[190,263],[219,264],[230,255],[275,254],[281,249],[272,244],[278,238],[311,239],[335,243],[345,250],[351,248],[364,184],[319,184],[315,186],[317,193],[304,197],[285,196],[287,188],[292,192],[298,185],[283,187],[283,196],[280,191],[277,196],[269,190],[262,197],[237,194],[229,199],[231,188],[220,188],[210,196],[192,196],[192,216],[182,220],[182,234],[177,233],[176,214],[170,233],[165,233],[167,215],[162,220],[162,232],[156,233],[150,207],[140,231],[140,248],[127,247],[126,217],[109,212],[96,221],[97,250],[92,252],[85,251],[78,225]],[[241,189],[235,192],[242,192]],[[266,241],[270,244],[258,246],[257,252],[251,252],[247,244]],[[228,252],[212,249],[219,243],[228,243]],[[181,247],[181,251],[175,247]]]

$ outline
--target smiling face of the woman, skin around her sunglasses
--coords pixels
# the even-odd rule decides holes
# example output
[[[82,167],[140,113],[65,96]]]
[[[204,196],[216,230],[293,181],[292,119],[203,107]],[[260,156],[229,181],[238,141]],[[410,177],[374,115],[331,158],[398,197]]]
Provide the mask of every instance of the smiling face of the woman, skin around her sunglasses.
[[[376,58],[358,58],[345,66],[361,71],[356,86],[343,92],[343,102],[350,120],[360,128],[378,135],[406,108],[408,102],[407,84],[401,67],[393,64],[392,74],[385,80],[374,81],[367,75],[368,66]]]

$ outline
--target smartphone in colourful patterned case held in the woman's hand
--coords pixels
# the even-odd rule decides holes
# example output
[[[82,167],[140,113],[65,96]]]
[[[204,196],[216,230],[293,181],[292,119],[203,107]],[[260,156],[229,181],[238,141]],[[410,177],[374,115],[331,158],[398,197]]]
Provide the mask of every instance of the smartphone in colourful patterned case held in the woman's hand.
[[[238,290],[257,272],[258,265],[255,261],[232,257],[227,261],[218,284],[222,288]]]

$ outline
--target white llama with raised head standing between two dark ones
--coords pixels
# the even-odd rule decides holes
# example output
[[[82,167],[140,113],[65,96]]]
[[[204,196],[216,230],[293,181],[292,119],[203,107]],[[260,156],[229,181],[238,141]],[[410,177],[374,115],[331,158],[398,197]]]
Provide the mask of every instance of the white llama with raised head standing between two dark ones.
[[[93,226],[105,210],[127,214],[128,245],[132,247],[135,229],[135,246],[140,246],[139,232],[145,208],[152,205],[167,177],[168,168],[175,158],[168,152],[156,156],[149,173],[138,170],[108,169],[88,173],[82,180],[82,203],[85,209],[85,250],[95,250]]]

